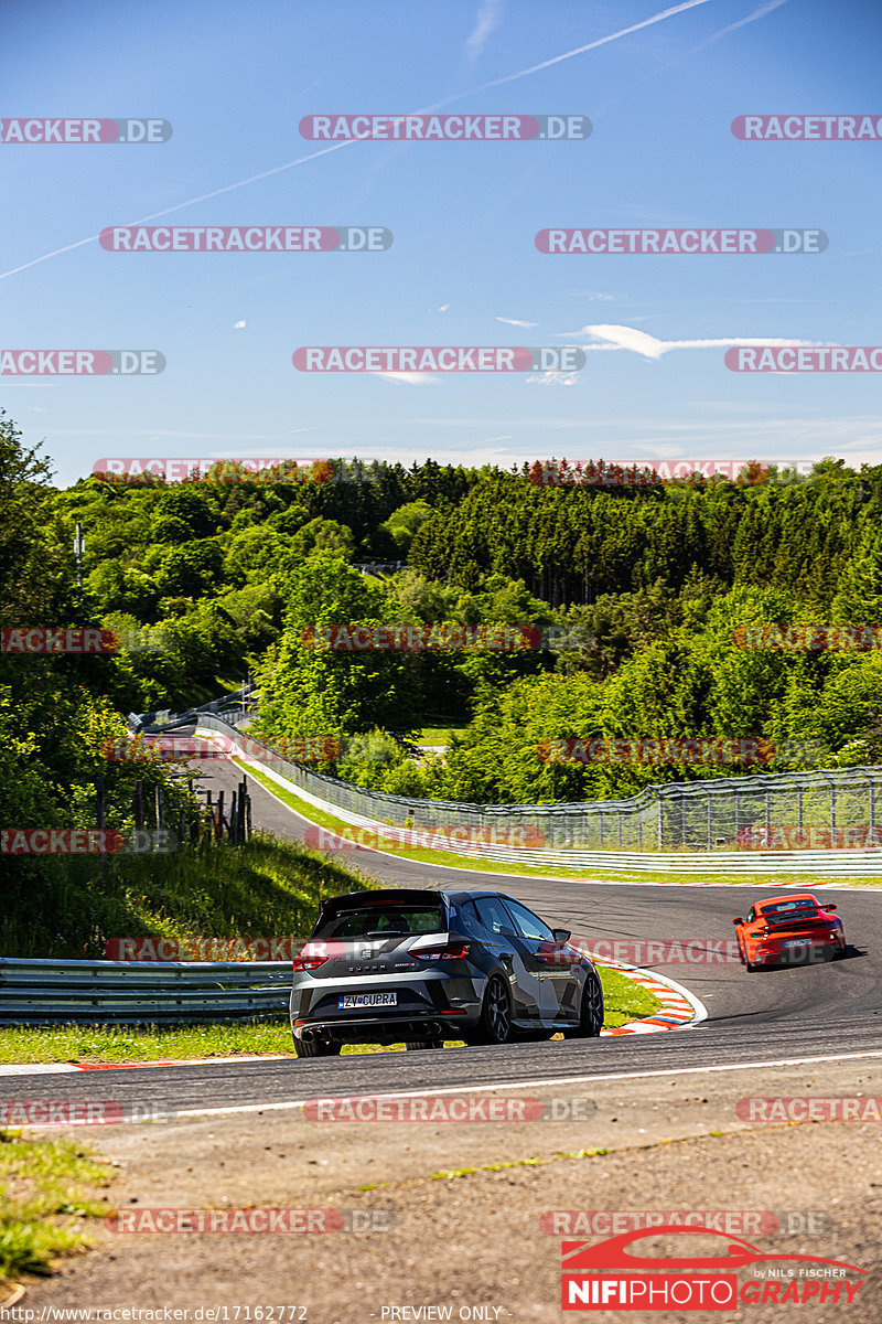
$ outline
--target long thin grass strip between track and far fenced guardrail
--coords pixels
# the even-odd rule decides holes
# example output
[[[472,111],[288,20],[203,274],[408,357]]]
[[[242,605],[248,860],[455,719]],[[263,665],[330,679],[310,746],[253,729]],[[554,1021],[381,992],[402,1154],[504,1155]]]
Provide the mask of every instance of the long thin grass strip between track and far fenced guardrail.
[[[238,760],[235,761],[238,763]],[[291,790],[287,790],[284,786],[280,786],[278,781],[274,781],[271,777],[267,777],[264,772],[242,763],[238,763],[238,765],[250,777],[254,777],[254,780],[258,781],[262,786],[264,786],[267,790],[271,790],[272,794],[276,796],[283,804],[288,805],[291,809],[295,809],[303,818],[308,818],[309,822],[316,824],[316,826],[319,828],[328,828],[331,831],[345,834],[349,838],[354,835],[356,842],[353,843],[357,843],[358,835],[362,831],[362,829],[358,828],[353,829],[352,824],[346,824],[341,818],[335,818],[333,814],[328,814],[321,809],[316,809],[308,801],[301,800],[300,796],[295,794]],[[365,842],[370,842],[370,829],[364,829],[364,834],[365,834]],[[558,865],[538,867],[536,865],[520,865],[517,862],[509,862],[509,861],[501,862],[497,859],[496,861],[481,859],[473,855],[456,855],[452,851],[444,851],[444,850],[421,850],[414,846],[391,846],[386,843],[383,843],[381,849],[383,854],[399,855],[402,859],[413,859],[427,865],[444,865],[448,869],[465,869],[480,874],[501,874],[501,875],[509,874],[524,878],[555,876],[555,878],[584,879],[587,876],[584,869],[566,869],[565,866],[558,866]],[[598,873],[602,873],[602,870],[598,870]],[[722,871],[717,874],[673,874],[673,873],[669,874],[661,870],[644,873],[643,870],[640,871],[619,870],[611,866],[610,875],[618,883],[731,883],[733,886],[738,886],[738,883],[744,883],[762,887],[787,887],[791,890],[801,890],[801,888],[822,887],[825,882],[830,882],[840,884],[850,883],[852,886],[861,886],[861,887],[882,887],[881,874],[861,876],[861,878],[854,878],[854,876],[834,878],[832,875],[829,878],[826,875],[819,878],[817,874],[809,874],[809,873],[805,874],[793,873],[785,875],[764,874],[762,870],[758,870],[754,874],[727,874],[727,875],[723,874]]]

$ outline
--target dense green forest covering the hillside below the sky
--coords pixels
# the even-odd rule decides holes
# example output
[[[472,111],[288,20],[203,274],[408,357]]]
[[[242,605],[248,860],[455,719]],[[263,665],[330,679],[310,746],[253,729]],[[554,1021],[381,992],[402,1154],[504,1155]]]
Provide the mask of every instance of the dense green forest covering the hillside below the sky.
[[[739,482],[620,487],[545,485],[526,465],[325,467],[323,482],[218,473],[60,490],[0,416],[3,625],[138,629],[155,643],[108,657],[0,654],[0,822],[86,822],[100,771],[112,826],[134,772],[108,768],[100,744],[124,733],[123,715],[205,702],[249,669],[262,690],[255,735],[366,735],[320,771],[415,796],[604,798],[756,771],[538,757],[542,740],[569,736],[807,739],[819,765],[879,761],[878,649],[748,651],[733,630],[882,624],[882,465],[857,473],[825,459],[789,482],[755,481],[752,469]],[[406,568],[356,568],[389,560]],[[505,653],[304,641],[309,626],[340,622],[557,633],[551,647]],[[414,757],[415,733],[443,718],[464,733],[444,759]],[[139,776],[179,794],[161,767]]]

